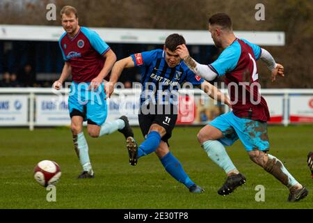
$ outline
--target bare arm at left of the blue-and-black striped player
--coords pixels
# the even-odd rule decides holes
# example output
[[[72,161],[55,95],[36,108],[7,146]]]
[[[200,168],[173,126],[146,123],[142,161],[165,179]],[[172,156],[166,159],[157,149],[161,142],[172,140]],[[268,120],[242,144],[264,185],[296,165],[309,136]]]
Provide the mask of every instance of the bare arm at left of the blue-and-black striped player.
[[[113,91],[114,91],[114,85],[116,82],[118,82],[118,79],[120,78],[120,75],[122,74],[122,71],[125,68],[134,68],[135,63],[131,56],[121,59],[120,61],[116,62],[112,68],[111,71],[111,77],[110,81],[106,83],[105,91],[106,91],[106,98],[110,98]]]

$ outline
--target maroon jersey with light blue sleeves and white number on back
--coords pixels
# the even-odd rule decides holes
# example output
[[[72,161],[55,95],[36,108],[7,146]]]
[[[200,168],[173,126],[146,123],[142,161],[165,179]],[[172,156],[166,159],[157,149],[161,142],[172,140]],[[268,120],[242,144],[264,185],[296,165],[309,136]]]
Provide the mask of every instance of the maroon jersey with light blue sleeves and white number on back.
[[[268,121],[270,115],[266,100],[259,93],[257,63],[261,47],[247,40],[234,40],[209,68],[218,76],[225,75],[228,93],[235,116]]]

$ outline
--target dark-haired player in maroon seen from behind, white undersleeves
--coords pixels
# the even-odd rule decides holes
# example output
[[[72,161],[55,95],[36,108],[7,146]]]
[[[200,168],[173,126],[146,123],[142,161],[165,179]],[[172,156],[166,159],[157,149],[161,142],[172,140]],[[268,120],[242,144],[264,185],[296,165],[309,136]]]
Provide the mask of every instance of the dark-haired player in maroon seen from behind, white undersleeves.
[[[218,194],[226,195],[245,183],[246,178],[234,167],[225,146],[231,146],[240,139],[250,159],[289,188],[288,201],[299,201],[308,191],[289,174],[277,157],[268,154],[269,143],[267,123],[269,112],[266,101],[259,94],[257,59],[262,59],[272,73],[272,81],[277,75],[284,77],[284,68],[275,63],[273,56],[261,47],[234,36],[232,21],[225,13],[217,13],[209,19],[209,31],[216,47],[223,52],[209,65],[197,63],[189,56],[186,45],[177,47],[177,54],[196,75],[209,81],[225,75],[232,112],[223,114],[206,125],[198,133],[198,140],[204,151],[219,167],[227,179]]]

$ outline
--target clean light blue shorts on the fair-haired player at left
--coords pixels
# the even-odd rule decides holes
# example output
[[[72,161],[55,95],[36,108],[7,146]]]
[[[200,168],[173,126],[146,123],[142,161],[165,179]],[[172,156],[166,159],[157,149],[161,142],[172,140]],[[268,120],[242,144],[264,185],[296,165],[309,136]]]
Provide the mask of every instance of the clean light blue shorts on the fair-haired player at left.
[[[72,82],[68,98],[70,116],[79,111],[83,114],[83,121],[95,123],[96,125],[102,125],[106,121],[106,117],[108,115],[104,84],[102,83],[97,91],[89,91],[89,84],[90,83],[78,84]]]

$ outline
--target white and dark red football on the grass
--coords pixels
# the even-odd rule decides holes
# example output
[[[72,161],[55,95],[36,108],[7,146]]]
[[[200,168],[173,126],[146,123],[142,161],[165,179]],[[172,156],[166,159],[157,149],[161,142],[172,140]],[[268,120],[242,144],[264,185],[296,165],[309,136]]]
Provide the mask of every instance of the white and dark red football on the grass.
[[[61,177],[60,166],[54,161],[42,160],[33,170],[33,177],[43,187],[55,185]]]

